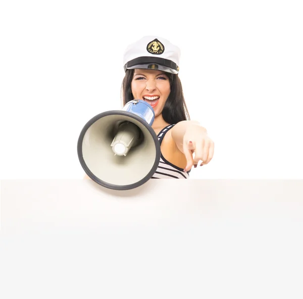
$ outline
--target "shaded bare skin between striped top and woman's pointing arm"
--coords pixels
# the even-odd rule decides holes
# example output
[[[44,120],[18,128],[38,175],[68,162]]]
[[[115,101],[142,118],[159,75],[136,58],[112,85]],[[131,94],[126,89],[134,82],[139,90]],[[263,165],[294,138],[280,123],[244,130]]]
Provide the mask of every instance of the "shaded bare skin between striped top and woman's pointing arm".
[[[165,136],[163,137],[161,143],[161,152],[163,157],[170,163],[176,165],[180,168],[186,167],[186,158],[184,154],[177,147],[173,137],[172,130],[168,130]]]

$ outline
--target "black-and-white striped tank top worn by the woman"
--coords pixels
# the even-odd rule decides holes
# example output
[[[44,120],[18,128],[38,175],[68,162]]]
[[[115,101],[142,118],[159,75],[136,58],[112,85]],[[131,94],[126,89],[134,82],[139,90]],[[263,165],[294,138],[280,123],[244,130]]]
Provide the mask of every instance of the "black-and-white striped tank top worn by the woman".
[[[158,140],[160,141],[160,145],[162,143],[162,140],[163,140],[165,134],[174,125],[175,124],[168,125],[159,132],[159,134],[157,136],[158,136]],[[169,161],[167,161],[161,153],[159,166],[151,178],[152,179],[187,179],[187,178],[189,178],[189,172],[190,172],[190,170],[187,172],[184,172],[184,170],[182,168],[177,167],[177,166],[173,165],[172,163],[170,163]]]

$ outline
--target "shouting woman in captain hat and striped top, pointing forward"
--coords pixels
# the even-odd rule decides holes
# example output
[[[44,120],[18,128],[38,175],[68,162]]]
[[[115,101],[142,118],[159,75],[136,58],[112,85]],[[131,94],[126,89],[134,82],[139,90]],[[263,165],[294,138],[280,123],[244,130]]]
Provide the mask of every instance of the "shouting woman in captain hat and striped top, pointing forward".
[[[141,38],[124,53],[123,105],[142,99],[155,112],[152,128],[161,143],[161,162],[153,178],[188,178],[192,166],[200,160],[200,166],[208,164],[214,154],[207,130],[189,118],[179,58],[179,48],[157,36]]]

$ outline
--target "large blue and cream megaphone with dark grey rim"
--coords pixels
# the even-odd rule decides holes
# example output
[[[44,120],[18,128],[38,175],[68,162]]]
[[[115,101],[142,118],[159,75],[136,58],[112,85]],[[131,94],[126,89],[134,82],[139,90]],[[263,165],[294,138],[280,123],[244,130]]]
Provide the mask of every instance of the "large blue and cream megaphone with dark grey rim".
[[[94,116],[78,138],[78,158],[85,173],[96,183],[115,190],[136,188],[156,172],[160,142],[151,125],[153,108],[141,99],[122,110]]]

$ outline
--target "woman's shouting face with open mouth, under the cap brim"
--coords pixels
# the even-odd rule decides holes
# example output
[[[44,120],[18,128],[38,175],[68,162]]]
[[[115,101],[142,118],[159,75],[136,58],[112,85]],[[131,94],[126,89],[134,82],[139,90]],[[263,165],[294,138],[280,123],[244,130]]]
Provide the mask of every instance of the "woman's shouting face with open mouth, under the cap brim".
[[[162,113],[171,91],[169,78],[162,71],[135,69],[131,91],[134,99],[142,99],[153,107],[157,117]]]

